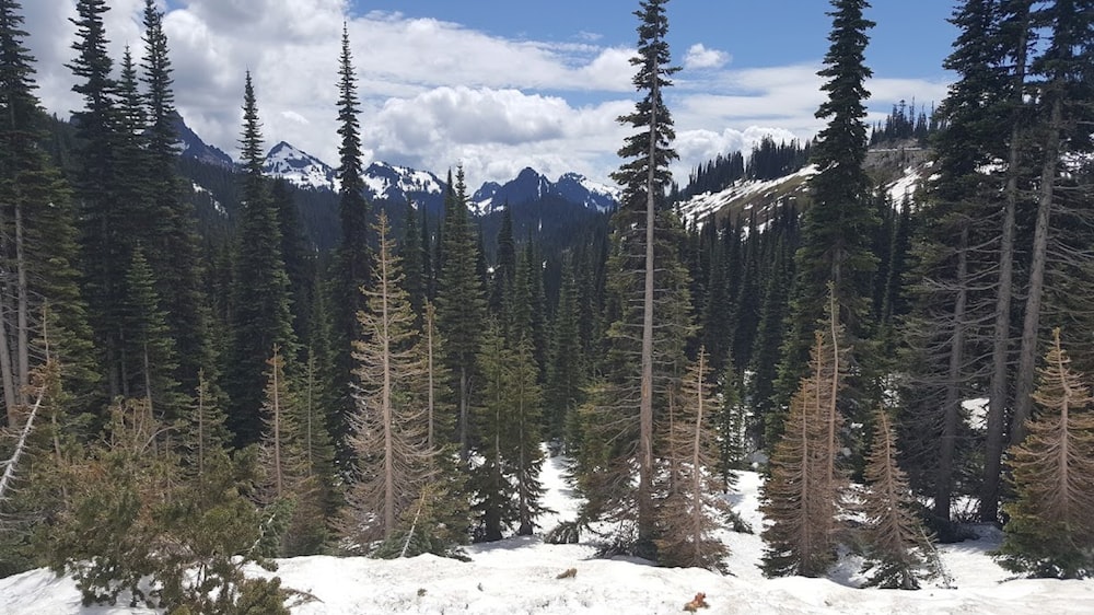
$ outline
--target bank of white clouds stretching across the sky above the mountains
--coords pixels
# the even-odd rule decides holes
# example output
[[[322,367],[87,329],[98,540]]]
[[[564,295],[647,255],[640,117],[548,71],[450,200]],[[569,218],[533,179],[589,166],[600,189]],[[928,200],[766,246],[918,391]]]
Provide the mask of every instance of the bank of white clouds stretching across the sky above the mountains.
[[[75,0],[24,2],[27,45],[37,58],[44,105],[67,117],[81,101],[65,67]],[[633,108],[632,48],[583,33],[568,42],[488,35],[397,12],[348,13],[346,0],[178,0],[164,20],[175,95],[187,124],[236,153],[244,72],[251,71],[263,135],[328,163],[338,159],[338,58],[348,22],[368,158],[443,173],[463,164],[473,187],[524,166],[608,183],[630,134],[616,118]],[[140,53],[143,0],[113,0],[110,53]],[[725,51],[694,44],[666,94],[684,173],[763,134],[808,138],[823,100],[816,63],[726,69]],[[693,70],[694,69],[694,70]],[[945,85],[875,79],[886,107],[912,95],[941,101]],[[887,108],[885,108],[887,111]],[[760,128],[763,127],[763,128]],[[778,138],[778,137],[777,137]]]

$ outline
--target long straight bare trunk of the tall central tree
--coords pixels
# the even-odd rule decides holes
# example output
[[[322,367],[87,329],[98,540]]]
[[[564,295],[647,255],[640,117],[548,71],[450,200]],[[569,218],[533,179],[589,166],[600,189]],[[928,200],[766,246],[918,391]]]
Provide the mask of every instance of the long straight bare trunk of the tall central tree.
[[[653,62],[650,98],[650,150],[645,179],[645,283],[642,294],[642,390],[639,403],[638,539],[653,539],[653,224],[657,148],[657,71]]]

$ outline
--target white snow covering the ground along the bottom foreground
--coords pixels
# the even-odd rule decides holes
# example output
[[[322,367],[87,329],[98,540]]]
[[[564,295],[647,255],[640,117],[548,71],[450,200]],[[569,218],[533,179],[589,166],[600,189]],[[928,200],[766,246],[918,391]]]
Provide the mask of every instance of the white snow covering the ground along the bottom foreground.
[[[572,519],[577,502],[561,477],[561,461],[545,464],[548,506],[558,511],[544,520]],[[745,473],[736,510],[754,527],[759,477]],[[998,533],[976,542],[941,547],[956,589],[927,587],[916,592],[860,590],[853,565],[837,571],[837,581],[804,578],[765,579],[757,567],[763,554],[758,535],[725,534],[732,549],[731,573],[656,568],[640,561],[592,558],[586,545],[547,545],[538,538],[514,538],[468,549],[473,561],[432,556],[394,561],[364,558],[300,557],[280,561],[283,584],[315,600],[293,608],[298,615],[321,614],[653,614],[682,613],[697,592],[707,594],[700,613],[1005,613],[1094,614],[1094,581],[1011,579],[987,552]],[[558,578],[568,569],[572,578]],[[116,615],[151,613],[121,607],[82,607],[69,579],[34,570],[0,579],[0,614]]]

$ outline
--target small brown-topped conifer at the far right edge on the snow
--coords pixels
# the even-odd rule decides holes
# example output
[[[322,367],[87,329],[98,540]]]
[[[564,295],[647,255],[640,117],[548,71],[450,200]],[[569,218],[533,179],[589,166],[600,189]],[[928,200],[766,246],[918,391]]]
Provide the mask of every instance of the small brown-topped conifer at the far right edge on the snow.
[[[1003,507],[1000,564],[1033,577],[1094,573],[1094,397],[1070,362],[1056,329],[1034,393],[1041,414],[1009,454],[1016,499]]]

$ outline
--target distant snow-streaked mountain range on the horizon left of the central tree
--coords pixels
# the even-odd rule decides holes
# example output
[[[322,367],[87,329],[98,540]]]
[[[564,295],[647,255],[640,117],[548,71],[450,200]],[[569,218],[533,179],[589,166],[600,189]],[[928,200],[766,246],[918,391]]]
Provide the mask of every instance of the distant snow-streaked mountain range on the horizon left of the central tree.
[[[176,125],[179,151],[218,166],[232,167],[231,156],[205,143],[179,117]],[[314,155],[281,141],[266,154],[264,171],[270,176],[283,177],[293,185],[312,190],[338,190],[335,169]],[[374,201],[411,202],[415,208],[440,212],[444,207],[446,184],[434,173],[386,162],[373,162],[364,171],[365,192]],[[566,173],[551,182],[533,169],[524,169],[517,176],[498,184],[487,182],[470,197],[474,213],[489,216],[507,205],[520,207],[528,204],[561,202],[581,206],[596,212],[615,209],[619,190],[591,182],[578,173]]]

